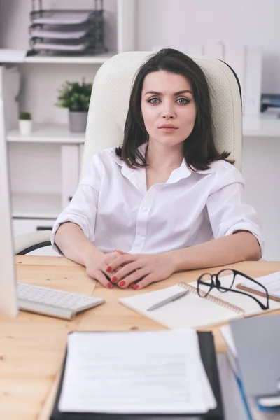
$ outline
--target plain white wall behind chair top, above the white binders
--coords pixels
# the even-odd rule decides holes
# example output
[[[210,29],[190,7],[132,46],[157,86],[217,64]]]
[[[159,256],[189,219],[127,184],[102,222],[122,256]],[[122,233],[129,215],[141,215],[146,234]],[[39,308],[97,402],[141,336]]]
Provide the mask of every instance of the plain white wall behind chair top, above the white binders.
[[[279,0],[139,0],[137,47],[260,45],[262,92],[280,92]]]

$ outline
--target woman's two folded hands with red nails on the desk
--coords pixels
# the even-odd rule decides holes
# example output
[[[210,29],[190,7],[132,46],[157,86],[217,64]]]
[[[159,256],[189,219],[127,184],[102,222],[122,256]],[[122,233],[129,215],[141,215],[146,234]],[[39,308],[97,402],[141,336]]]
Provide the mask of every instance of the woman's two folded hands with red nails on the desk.
[[[116,284],[120,288],[137,290],[167,279],[175,272],[175,267],[168,254],[130,254],[116,250],[104,255],[99,262],[89,262],[86,271],[106,288]]]

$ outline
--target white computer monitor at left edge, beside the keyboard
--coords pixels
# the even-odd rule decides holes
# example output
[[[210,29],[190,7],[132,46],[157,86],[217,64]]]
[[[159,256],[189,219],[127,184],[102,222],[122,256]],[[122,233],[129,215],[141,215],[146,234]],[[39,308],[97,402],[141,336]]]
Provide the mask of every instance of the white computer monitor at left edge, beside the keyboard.
[[[3,99],[0,97],[0,317],[18,315],[10,182]]]

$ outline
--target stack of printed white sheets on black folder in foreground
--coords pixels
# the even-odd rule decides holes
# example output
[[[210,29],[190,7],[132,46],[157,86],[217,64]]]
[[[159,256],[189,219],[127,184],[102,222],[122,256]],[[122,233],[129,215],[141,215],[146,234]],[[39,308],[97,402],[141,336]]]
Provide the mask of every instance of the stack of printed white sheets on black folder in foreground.
[[[75,332],[68,337],[58,407],[62,412],[198,414],[216,407],[216,400],[194,330]]]

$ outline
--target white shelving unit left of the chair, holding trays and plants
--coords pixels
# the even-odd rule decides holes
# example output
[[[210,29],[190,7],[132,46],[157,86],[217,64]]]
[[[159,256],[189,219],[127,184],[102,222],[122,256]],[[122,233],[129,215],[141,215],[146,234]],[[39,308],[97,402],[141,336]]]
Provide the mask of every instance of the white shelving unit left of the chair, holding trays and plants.
[[[31,1],[15,0],[13,10],[1,3],[0,48],[28,49],[28,25]],[[25,3],[25,4],[23,4]],[[43,1],[52,8],[92,8],[92,0]],[[92,57],[26,57],[17,64],[20,72],[20,111],[29,111],[33,132],[22,137],[17,118],[8,109],[8,158],[12,190],[15,234],[52,223],[78,185],[80,160],[85,134],[68,130],[68,112],[55,106],[57,90],[66,80],[93,82],[99,66],[117,52],[135,49],[135,0],[104,0],[105,45],[109,52]],[[0,67],[0,95],[5,101],[6,70]]]

